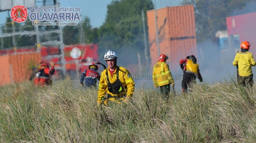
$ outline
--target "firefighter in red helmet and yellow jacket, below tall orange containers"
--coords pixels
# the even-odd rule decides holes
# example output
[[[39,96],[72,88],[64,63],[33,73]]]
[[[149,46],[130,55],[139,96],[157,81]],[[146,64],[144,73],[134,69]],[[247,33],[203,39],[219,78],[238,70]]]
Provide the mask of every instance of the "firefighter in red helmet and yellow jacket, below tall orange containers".
[[[160,87],[160,92],[164,94],[164,99],[169,98],[170,85],[174,87],[174,79],[172,78],[169,66],[166,63],[168,56],[161,54],[158,62],[155,64],[152,73],[152,79],[155,88]]]

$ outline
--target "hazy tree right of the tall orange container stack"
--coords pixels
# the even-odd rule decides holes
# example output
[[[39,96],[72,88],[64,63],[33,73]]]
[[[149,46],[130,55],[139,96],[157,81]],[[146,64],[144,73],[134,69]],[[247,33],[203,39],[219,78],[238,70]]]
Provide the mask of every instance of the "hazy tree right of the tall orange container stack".
[[[182,5],[194,5],[197,42],[215,39],[217,31],[227,30],[226,17],[255,0],[183,0]]]

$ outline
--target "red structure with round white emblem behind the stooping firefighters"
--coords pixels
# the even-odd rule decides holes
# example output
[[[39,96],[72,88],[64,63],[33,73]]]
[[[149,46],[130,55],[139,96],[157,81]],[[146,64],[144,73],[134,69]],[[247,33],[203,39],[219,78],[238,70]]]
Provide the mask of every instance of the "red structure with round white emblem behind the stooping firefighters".
[[[72,57],[72,50],[80,51],[80,56]],[[55,63],[57,72],[54,75],[56,78],[60,76],[64,78],[66,74],[70,76],[81,74],[92,62],[98,61],[97,44],[67,45],[63,52],[64,53],[62,53],[58,47],[41,47],[42,62]],[[62,62],[61,57],[64,57],[64,62]],[[65,66],[62,64],[65,64]],[[63,73],[63,69],[66,69],[66,74]]]

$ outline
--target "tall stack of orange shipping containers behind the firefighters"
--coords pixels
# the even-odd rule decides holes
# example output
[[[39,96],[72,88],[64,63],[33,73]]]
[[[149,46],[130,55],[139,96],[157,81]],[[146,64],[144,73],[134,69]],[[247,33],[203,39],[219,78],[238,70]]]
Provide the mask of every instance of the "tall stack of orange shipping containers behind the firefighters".
[[[158,9],[157,28],[160,54],[166,54],[171,71],[179,70],[179,60],[189,55],[197,56],[195,11],[193,5]],[[156,44],[155,10],[147,12],[151,68],[158,61]]]

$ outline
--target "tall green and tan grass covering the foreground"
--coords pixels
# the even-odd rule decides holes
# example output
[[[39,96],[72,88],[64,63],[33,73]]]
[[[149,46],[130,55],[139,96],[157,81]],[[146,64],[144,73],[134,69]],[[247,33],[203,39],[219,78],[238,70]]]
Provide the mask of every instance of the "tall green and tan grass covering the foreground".
[[[97,90],[68,80],[7,85],[0,87],[0,142],[253,143],[255,95],[234,81],[204,83],[166,103],[154,89],[141,88],[127,105],[97,109]]]

